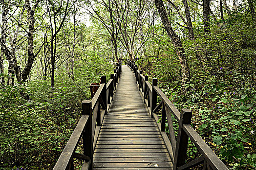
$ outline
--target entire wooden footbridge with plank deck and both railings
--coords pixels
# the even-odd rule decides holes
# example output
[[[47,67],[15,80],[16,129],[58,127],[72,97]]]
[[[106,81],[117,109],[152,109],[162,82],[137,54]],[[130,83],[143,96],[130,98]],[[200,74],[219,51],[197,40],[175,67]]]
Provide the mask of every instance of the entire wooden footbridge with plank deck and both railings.
[[[204,170],[228,170],[192,128],[192,112],[179,112],[157,79],[150,85],[135,63],[127,63],[120,63],[108,82],[102,76],[93,99],[82,102],[82,117],[54,170],[73,170],[74,159],[82,160],[82,170],[184,170],[200,164]],[[179,122],[177,136],[172,119]],[[190,162],[189,138],[201,153]],[[79,145],[83,154],[76,152]]]

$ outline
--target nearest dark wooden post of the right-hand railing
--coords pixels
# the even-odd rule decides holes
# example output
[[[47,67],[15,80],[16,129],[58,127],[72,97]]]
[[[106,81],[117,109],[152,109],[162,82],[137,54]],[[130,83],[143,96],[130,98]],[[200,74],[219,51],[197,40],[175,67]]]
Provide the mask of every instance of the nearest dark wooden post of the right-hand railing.
[[[179,130],[178,130],[178,138],[177,145],[174,151],[174,165],[173,170],[177,170],[178,167],[185,164],[185,160],[187,157],[187,148],[189,136],[183,130],[183,124],[191,124],[192,119],[192,111],[189,109],[182,109],[179,120]]]

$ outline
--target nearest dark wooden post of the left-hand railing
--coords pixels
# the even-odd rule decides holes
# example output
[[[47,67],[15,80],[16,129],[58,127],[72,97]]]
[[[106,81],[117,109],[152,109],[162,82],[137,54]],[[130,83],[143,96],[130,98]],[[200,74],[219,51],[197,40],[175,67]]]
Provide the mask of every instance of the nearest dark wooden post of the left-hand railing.
[[[90,157],[90,168],[93,169],[93,140],[92,140],[92,110],[91,110],[91,101],[82,102],[82,115],[88,115],[88,123],[85,126],[83,131],[83,147],[84,155]]]

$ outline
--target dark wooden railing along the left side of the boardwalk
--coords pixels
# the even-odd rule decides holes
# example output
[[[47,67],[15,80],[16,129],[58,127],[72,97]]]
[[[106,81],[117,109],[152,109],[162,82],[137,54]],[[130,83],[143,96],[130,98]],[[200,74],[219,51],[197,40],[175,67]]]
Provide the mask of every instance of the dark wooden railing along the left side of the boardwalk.
[[[101,85],[91,101],[82,102],[82,117],[73,134],[69,138],[54,170],[73,170],[74,158],[83,160],[82,170],[93,169],[93,153],[99,136],[102,120],[112,102],[114,90],[122,72],[121,63],[106,81],[106,76],[101,77]],[[83,154],[76,153],[76,149],[83,138]]]

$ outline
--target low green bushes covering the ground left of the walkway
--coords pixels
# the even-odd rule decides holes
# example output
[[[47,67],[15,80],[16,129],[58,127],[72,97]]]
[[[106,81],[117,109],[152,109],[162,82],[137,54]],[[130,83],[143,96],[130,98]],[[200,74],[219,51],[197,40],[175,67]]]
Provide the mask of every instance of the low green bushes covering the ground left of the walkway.
[[[90,100],[90,83],[112,68],[102,57],[87,57],[76,62],[75,81],[57,72],[54,88],[34,80],[0,89],[0,169],[52,169],[81,117],[82,100]]]

